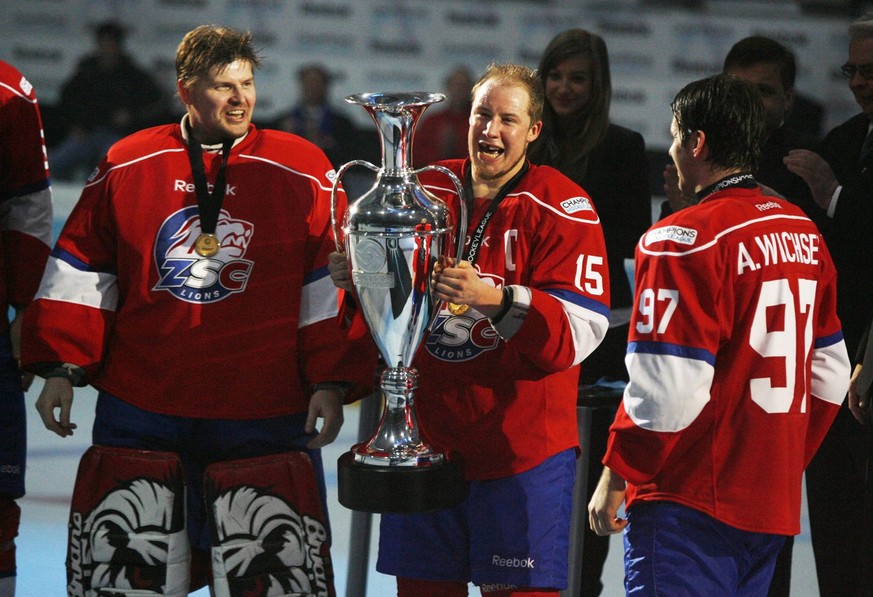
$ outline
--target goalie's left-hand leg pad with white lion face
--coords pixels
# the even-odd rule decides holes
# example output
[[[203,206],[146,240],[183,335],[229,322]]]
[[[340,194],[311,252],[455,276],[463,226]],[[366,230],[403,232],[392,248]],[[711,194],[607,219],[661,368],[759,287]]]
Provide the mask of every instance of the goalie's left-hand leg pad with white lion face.
[[[69,597],[188,594],[185,483],[171,452],[92,446],[70,507]]]

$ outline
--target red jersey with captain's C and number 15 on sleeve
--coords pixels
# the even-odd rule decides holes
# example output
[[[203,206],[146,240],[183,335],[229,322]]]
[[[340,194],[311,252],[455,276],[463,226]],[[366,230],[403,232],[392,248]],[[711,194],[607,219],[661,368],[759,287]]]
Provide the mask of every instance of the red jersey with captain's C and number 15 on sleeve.
[[[442,162],[463,179],[461,160]],[[423,184],[454,207],[445,175]],[[490,199],[476,199],[471,230]],[[514,285],[527,310],[499,325],[443,305],[415,367],[416,407],[437,448],[459,452],[470,479],[505,477],[579,445],[579,364],[609,325],[609,270],[600,220],[578,185],[530,166],[485,229],[475,267],[497,288]]]

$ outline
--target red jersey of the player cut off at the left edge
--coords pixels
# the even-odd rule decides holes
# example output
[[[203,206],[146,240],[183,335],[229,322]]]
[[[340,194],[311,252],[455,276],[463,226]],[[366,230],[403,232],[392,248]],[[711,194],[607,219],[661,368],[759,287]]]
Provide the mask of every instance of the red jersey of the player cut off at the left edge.
[[[49,254],[52,197],[33,85],[0,61],[0,333],[10,305],[27,306]]]

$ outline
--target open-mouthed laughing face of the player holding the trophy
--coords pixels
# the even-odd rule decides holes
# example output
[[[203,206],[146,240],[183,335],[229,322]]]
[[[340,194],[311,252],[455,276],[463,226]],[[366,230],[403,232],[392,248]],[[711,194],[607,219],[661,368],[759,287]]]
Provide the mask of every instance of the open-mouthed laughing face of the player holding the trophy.
[[[527,146],[542,128],[542,122],[531,123],[529,102],[521,85],[494,79],[476,91],[468,144],[477,197],[493,197],[524,164]]]

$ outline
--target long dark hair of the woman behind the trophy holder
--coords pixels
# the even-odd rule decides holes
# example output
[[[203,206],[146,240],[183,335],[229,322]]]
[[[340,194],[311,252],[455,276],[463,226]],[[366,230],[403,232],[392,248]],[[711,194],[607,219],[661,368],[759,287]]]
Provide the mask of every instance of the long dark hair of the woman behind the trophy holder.
[[[579,56],[587,58],[591,65],[591,97],[588,104],[568,126],[566,123],[558,124],[555,111],[546,102],[543,131],[528,152],[531,161],[555,166],[574,180],[584,176],[588,155],[603,141],[609,129],[612,76],[606,42],[599,35],[584,29],[562,31],[546,46],[538,68],[545,88],[546,79],[553,69],[568,58]]]

